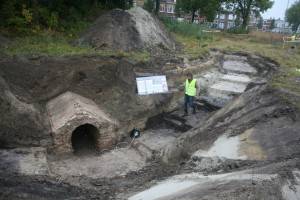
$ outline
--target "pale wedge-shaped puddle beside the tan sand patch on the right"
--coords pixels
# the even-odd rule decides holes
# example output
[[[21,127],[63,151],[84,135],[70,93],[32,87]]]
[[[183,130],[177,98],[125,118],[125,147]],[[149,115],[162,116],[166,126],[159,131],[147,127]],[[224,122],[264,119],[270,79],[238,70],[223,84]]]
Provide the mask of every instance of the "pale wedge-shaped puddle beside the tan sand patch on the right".
[[[240,138],[222,135],[208,151],[199,150],[194,153],[197,157],[224,157],[228,159],[247,159],[239,154]]]

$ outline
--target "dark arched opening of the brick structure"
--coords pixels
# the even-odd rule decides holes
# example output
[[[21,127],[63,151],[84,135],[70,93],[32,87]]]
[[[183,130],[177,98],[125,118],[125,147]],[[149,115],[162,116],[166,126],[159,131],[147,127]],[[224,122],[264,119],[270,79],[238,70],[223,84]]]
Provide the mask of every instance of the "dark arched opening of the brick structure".
[[[72,133],[72,147],[76,154],[91,153],[97,149],[98,129],[91,124],[78,126]]]

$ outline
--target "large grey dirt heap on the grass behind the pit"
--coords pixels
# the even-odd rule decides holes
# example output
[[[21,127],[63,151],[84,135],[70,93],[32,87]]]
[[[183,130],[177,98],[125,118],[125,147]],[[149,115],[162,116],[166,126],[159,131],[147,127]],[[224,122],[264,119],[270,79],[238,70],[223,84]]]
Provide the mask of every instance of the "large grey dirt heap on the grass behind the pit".
[[[77,43],[124,51],[155,46],[175,47],[159,20],[142,8],[129,11],[115,9],[100,16]]]

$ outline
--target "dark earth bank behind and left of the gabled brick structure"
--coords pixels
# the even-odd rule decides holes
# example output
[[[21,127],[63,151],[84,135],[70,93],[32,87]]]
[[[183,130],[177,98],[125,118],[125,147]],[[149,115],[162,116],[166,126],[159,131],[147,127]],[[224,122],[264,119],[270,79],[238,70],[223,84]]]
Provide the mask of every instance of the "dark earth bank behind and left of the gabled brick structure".
[[[45,105],[67,91],[93,100],[120,122],[124,135],[134,126],[143,125],[148,118],[145,116],[158,114],[160,106],[171,97],[139,98],[135,68],[141,67],[121,58],[9,58],[0,60],[0,65],[0,112],[5,113],[0,120],[3,147],[51,144]]]

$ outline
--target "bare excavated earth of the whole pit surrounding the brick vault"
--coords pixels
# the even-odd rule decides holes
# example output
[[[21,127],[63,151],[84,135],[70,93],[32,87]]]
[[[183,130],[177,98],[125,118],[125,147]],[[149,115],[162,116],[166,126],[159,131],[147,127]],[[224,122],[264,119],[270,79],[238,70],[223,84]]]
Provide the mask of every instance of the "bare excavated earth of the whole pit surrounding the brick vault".
[[[0,199],[300,199],[300,114],[268,85],[278,65],[220,51],[170,60],[1,58]],[[188,71],[202,90],[183,116]],[[152,74],[171,92],[138,96],[135,77]],[[55,153],[47,105],[71,93],[115,121],[110,148]]]

